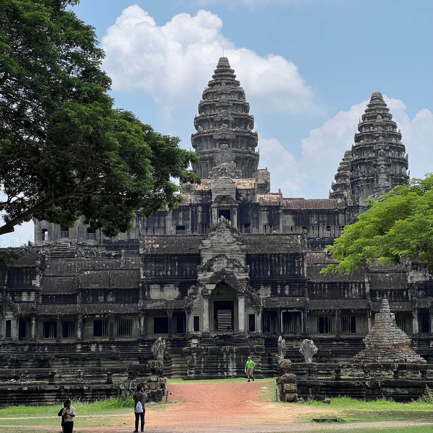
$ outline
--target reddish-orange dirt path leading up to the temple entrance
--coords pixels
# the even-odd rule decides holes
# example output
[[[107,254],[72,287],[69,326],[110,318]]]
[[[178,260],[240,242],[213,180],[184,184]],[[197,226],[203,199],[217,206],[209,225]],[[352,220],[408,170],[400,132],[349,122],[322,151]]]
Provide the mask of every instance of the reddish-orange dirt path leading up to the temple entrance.
[[[155,433],[270,433],[290,431],[313,431],[336,429],[336,424],[299,424],[309,414],[318,414],[329,409],[301,406],[294,404],[281,405],[276,402],[263,402],[262,398],[269,395],[268,383],[255,382],[223,382],[208,381],[182,382],[169,384],[168,401],[178,401],[167,404],[164,410],[146,410],[146,432]],[[118,432],[126,433],[133,430],[133,414],[117,415],[110,418],[109,427],[81,427],[80,414],[77,414],[74,431],[85,433]],[[87,419],[100,415],[83,416]],[[42,421],[42,420],[41,420]],[[41,422],[43,424],[43,422]],[[399,427],[424,425],[422,422],[374,422],[344,424],[344,429],[361,427]],[[6,427],[6,426],[3,426]],[[18,427],[19,426],[15,426]],[[337,427],[338,428],[338,427]],[[0,427],[0,432],[2,431]],[[58,432],[56,427],[32,427],[23,432]]]

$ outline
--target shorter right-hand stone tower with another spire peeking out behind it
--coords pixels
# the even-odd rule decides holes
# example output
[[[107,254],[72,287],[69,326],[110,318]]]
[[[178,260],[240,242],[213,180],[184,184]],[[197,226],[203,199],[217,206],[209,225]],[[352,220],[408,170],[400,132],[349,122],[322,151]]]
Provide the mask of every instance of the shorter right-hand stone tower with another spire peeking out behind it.
[[[406,184],[409,176],[400,129],[380,92],[372,94],[358,131],[350,154],[346,152],[340,163],[330,198],[347,199],[350,194],[361,213],[367,197],[378,199],[396,185]]]

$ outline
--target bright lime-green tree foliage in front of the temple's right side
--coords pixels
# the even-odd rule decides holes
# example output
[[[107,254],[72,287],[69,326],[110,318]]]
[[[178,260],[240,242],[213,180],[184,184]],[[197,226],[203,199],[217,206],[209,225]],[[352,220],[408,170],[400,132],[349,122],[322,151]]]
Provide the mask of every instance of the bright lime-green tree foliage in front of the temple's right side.
[[[322,274],[352,274],[376,261],[391,265],[417,257],[433,269],[433,174],[411,179],[382,198],[370,199],[369,209],[327,246],[339,263],[323,268]]]

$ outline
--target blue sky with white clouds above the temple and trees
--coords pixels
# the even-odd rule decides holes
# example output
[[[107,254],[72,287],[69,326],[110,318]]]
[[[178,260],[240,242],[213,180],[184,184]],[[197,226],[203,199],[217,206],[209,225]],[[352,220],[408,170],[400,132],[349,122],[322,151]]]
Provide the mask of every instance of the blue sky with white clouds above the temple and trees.
[[[135,6],[134,6],[135,5]],[[430,0],[81,0],[116,105],[189,149],[222,55],[246,91],[260,167],[284,197],[327,197],[372,92],[401,128],[411,176],[432,171]],[[3,236],[28,239],[32,223]]]

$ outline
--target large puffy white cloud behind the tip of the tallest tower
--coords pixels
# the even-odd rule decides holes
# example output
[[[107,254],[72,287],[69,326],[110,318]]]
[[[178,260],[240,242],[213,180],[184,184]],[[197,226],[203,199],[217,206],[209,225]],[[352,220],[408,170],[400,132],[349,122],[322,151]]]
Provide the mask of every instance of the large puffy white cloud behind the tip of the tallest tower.
[[[224,45],[250,102],[269,111],[318,111],[296,65],[280,55],[261,57],[237,48],[223,36],[222,26],[219,16],[205,10],[195,16],[179,13],[158,26],[138,5],[127,7],[102,39],[103,68],[113,90],[142,90],[165,109],[181,101],[197,103]]]

